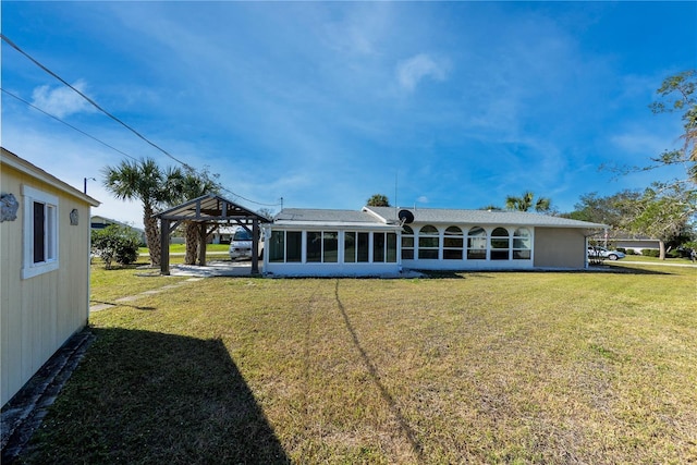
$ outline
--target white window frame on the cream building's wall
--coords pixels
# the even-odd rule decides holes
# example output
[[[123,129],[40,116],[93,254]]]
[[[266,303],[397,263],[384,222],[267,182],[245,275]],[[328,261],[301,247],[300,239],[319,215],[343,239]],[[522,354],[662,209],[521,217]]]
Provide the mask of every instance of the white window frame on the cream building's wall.
[[[33,278],[59,268],[58,197],[37,188],[22,185],[24,196],[24,228],[22,250],[22,279]],[[44,261],[34,262],[34,204],[44,204]]]

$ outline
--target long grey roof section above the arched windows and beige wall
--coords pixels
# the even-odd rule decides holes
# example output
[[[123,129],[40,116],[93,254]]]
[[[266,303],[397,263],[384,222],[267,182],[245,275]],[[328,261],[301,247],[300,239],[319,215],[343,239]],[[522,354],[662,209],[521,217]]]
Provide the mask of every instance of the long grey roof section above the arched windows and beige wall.
[[[420,224],[476,224],[476,225],[501,225],[512,224],[521,227],[546,227],[546,228],[583,228],[583,229],[604,229],[606,224],[591,223],[587,221],[571,220],[561,217],[550,217],[540,213],[529,213],[525,211],[498,211],[498,210],[456,210],[439,208],[399,208],[399,207],[364,207],[364,211],[372,211],[386,221],[399,221],[399,212],[408,210],[414,215],[414,221]]]

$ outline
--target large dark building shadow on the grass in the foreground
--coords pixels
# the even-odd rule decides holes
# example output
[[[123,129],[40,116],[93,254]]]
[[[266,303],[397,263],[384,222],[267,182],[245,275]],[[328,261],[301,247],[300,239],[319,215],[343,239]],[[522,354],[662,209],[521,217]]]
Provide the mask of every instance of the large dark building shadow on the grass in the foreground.
[[[93,331],[22,463],[290,463],[220,340]]]

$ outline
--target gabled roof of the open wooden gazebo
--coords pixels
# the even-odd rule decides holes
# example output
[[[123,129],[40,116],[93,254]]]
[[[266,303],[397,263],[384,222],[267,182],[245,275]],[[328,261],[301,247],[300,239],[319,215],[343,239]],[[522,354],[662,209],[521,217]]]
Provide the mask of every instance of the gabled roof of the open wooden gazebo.
[[[206,194],[194,198],[164,210],[157,217],[170,221],[223,222],[232,220],[242,224],[250,224],[253,220],[262,223],[271,222],[270,219],[217,194]]]

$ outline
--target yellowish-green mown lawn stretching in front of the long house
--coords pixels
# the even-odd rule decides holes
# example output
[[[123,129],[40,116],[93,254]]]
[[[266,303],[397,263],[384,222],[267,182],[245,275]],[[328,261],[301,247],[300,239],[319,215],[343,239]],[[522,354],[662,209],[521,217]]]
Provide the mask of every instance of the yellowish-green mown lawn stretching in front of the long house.
[[[91,315],[97,340],[22,458],[695,462],[696,292],[697,269],[631,261],[191,282]]]

